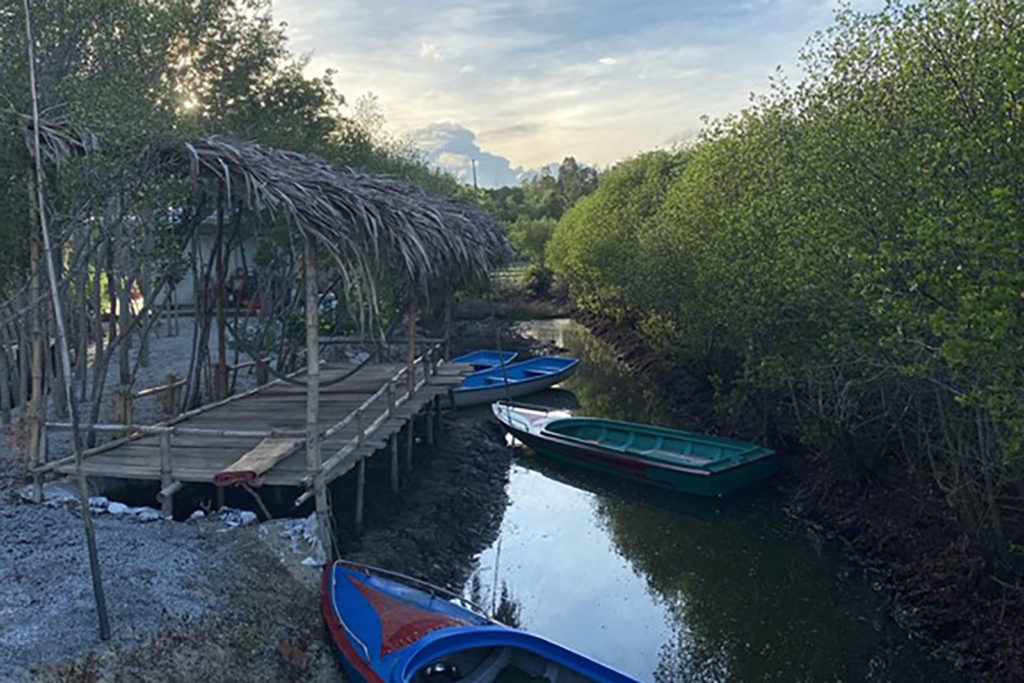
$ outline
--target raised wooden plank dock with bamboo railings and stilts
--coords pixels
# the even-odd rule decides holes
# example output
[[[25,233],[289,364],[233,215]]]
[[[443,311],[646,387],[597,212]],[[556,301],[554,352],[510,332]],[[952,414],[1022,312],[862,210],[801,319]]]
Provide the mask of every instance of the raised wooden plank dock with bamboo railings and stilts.
[[[430,358],[424,355],[412,366],[321,365],[318,425],[325,483],[354,467],[359,467],[361,479],[365,460],[390,445],[391,483],[397,488],[398,432],[425,414],[424,435],[432,441],[442,399],[472,372],[470,366]],[[312,497],[316,474],[306,458],[304,377],[298,373],[278,379],[157,425],[97,425],[100,431],[129,433],[87,451],[84,473],[160,482],[166,516],[172,514],[174,494],[186,483],[300,486],[306,490],[299,495],[299,505]],[[409,462],[413,430],[406,431]],[[37,474],[46,471],[73,474],[74,459],[49,463]],[[361,501],[357,509],[358,519]]]

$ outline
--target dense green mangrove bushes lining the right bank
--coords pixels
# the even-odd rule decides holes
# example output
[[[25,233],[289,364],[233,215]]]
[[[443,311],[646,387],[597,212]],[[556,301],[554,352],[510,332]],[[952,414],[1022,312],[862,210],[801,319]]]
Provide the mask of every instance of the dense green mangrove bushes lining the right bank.
[[[1019,18],[840,11],[800,85],[613,169],[547,256],[712,379],[723,419],[854,472],[895,457],[996,551],[1024,462]]]

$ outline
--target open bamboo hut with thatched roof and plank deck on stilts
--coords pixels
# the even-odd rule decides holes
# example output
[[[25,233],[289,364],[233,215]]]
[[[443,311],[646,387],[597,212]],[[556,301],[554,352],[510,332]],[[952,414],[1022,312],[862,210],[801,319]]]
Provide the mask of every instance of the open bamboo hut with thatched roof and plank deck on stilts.
[[[41,132],[52,165],[104,154]],[[503,231],[473,205],[256,143],[160,140],[140,171],[173,190],[167,208],[63,226],[73,362],[63,377],[44,352],[39,376],[24,374],[33,497],[78,475],[178,520],[225,504],[262,519],[315,511],[322,553],[337,552],[338,521],[361,529],[368,460],[397,493],[415,481],[414,450],[439,438],[470,372],[447,361],[454,297],[507,260]],[[52,311],[23,315],[50,336]],[[13,387],[36,361],[19,319],[12,307],[0,358]],[[177,353],[159,353],[165,342]]]

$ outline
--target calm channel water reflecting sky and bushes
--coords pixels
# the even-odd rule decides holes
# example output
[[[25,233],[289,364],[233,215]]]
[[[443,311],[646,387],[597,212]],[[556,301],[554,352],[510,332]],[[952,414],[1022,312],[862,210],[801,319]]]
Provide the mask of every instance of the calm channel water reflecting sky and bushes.
[[[682,426],[652,386],[568,321],[523,324],[582,358],[530,402]],[[553,465],[518,446],[497,541],[467,594],[642,681],[959,680],[885,614],[770,483],[690,498]]]

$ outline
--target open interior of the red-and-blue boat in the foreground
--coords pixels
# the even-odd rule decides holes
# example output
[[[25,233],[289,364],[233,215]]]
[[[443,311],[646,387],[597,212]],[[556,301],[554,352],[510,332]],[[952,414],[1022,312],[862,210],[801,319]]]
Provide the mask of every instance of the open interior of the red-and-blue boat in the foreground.
[[[412,683],[594,683],[594,679],[518,647],[478,647],[432,661]]]

